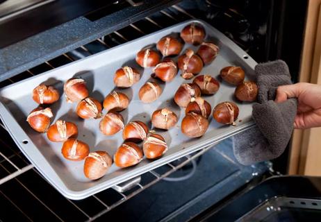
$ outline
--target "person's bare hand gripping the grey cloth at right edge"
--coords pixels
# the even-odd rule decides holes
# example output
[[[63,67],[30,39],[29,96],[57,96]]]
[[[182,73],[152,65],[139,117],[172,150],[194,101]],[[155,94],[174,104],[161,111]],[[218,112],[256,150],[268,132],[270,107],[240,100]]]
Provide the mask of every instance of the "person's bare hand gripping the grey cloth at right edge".
[[[297,98],[297,115],[294,127],[305,129],[321,126],[321,85],[296,83],[277,88],[275,102]]]

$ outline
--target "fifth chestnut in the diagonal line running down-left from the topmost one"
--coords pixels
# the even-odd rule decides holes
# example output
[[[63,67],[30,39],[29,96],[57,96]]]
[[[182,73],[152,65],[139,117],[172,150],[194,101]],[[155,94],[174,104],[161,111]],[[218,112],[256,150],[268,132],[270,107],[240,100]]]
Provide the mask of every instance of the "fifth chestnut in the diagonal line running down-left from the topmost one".
[[[122,92],[111,92],[104,99],[104,109],[109,112],[110,110],[120,112],[126,109],[129,105],[129,98]]]

